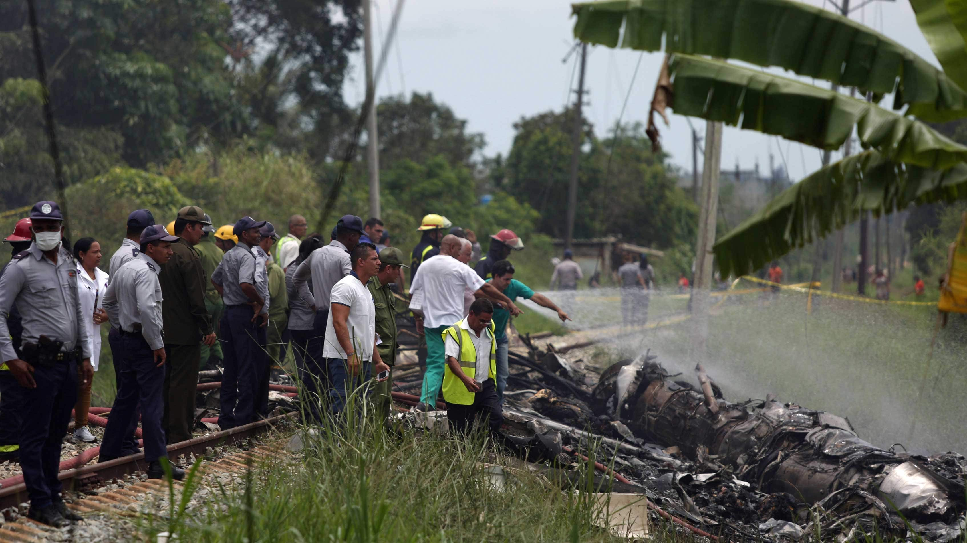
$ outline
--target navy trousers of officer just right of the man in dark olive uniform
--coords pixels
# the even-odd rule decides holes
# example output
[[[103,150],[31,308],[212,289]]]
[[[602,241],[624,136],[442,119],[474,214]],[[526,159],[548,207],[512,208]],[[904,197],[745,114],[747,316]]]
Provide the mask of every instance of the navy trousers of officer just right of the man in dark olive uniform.
[[[265,331],[260,331],[257,321],[251,322],[249,305],[226,305],[220,326],[225,369],[221,374],[219,426],[228,430],[254,422],[268,357],[259,343],[259,338],[265,341]]]

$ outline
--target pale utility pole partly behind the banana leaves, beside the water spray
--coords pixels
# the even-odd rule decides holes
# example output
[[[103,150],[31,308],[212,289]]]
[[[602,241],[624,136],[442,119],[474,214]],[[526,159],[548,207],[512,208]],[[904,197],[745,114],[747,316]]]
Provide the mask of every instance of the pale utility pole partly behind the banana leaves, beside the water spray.
[[[709,294],[712,289],[712,245],[716,243],[718,216],[718,173],[721,167],[722,124],[705,124],[705,162],[702,165],[702,194],[699,199],[698,241],[695,243],[695,276],[691,290],[692,320],[695,322],[693,356],[701,362],[708,354]]]

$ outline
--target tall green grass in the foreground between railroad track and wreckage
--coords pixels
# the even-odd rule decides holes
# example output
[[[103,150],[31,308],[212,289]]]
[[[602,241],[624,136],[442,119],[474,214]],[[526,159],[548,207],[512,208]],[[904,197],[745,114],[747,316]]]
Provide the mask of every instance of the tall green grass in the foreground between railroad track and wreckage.
[[[617,540],[595,526],[601,509],[584,492],[520,470],[495,489],[482,463],[506,460],[481,435],[437,438],[363,421],[321,429],[304,458],[256,465],[236,486],[196,499],[192,514],[143,517],[141,531],[212,543]]]

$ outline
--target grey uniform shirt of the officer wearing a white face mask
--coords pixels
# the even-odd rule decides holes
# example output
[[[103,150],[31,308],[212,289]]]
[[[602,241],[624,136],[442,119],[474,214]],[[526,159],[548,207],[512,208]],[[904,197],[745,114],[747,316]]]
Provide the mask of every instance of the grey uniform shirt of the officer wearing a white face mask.
[[[91,357],[91,341],[77,298],[77,264],[63,246],[57,264],[31,243],[27,254],[11,263],[0,276],[0,355],[14,360],[14,340],[7,326],[7,314],[16,306],[23,325],[23,341],[36,343],[45,335],[64,342],[64,351],[80,346],[82,358]]]

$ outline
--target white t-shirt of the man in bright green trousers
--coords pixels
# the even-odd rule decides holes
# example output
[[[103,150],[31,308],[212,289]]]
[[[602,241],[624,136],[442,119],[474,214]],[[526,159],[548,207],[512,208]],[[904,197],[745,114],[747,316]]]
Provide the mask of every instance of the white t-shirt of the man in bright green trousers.
[[[425,328],[449,327],[466,317],[463,312],[464,290],[477,292],[482,286],[484,279],[469,266],[452,256],[436,255],[426,259],[413,277],[410,292],[413,300],[419,300],[419,305],[411,300],[410,308],[423,311]]]

